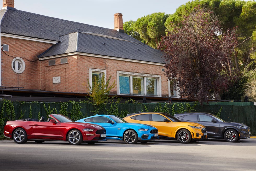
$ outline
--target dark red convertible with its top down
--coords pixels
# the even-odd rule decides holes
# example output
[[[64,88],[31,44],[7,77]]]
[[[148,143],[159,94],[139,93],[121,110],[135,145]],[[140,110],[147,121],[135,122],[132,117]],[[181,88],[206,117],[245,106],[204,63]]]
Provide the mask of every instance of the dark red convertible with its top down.
[[[37,143],[47,141],[68,141],[71,145],[83,142],[94,144],[106,140],[106,129],[96,124],[74,122],[66,116],[51,114],[47,121],[38,119],[19,119],[7,121],[4,136],[12,138],[15,143],[34,140]]]

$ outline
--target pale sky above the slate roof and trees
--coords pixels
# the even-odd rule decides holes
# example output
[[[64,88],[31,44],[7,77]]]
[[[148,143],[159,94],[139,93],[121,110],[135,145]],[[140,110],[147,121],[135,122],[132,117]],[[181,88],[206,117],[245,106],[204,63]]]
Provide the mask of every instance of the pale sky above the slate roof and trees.
[[[1,1],[0,1],[1,2]],[[114,28],[114,14],[123,14],[123,22],[136,21],[148,14],[173,14],[187,0],[14,0],[18,10]]]

